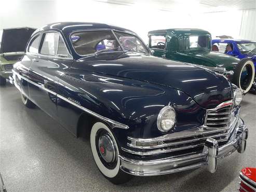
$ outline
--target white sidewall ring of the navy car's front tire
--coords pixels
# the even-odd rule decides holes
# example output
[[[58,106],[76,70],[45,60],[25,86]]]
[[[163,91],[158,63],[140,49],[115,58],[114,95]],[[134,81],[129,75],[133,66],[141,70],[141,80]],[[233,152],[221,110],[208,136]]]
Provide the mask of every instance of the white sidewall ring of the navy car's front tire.
[[[100,129],[104,129],[106,130],[110,135],[111,135],[111,139],[114,142],[114,145],[116,147],[116,156],[117,156],[117,163],[116,163],[116,167],[114,169],[108,169],[104,166],[104,164],[101,162],[100,157],[98,155],[97,152],[97,147],[96,146],[96,135],[98,130]],[[97,164],[98,169],[100,170],[100,172],[107,178],[113,178],[115,177],[119,170],[120,170],[120,158],[118,157],[119,155],[119,150],[118,150],[118,145],[117,142],[115,140],[115,137],[112,133],[112,131],[109,129],[109,127],[107,127],[105,124],[103,124],[102,122],[96,122],[91,129],[91,134],[90,134],[90,144],[91,144],[91,153],[93,156],[93,159],[95,160],[95,163]]]

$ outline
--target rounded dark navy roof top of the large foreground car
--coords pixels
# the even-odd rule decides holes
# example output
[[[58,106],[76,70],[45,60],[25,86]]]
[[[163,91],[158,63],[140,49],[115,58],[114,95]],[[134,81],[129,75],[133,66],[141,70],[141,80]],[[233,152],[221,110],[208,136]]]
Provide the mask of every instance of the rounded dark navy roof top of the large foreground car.
[[[76,30],[87,30],[87,29],[113,29],[119,31],[127,31],[134,33],[131,30],[125,28],[119,28],[118,26],[104,24],[104,23],[92,23],[92,22],[58,22],[58,23],[50,23],[42,26],[35,31],[35,33],[43,30],[51,30],[57,29],[62,31],[63,33],[71,33]],[[135,33],[134,33],[135,34]]]

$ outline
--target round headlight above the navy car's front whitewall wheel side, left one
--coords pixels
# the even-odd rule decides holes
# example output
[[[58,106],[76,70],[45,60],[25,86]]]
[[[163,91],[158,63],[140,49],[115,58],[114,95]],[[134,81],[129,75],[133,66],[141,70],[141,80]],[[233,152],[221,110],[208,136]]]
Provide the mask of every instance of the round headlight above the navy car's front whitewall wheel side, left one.
[[[176,112],[173,107],[165,106],[161,109],[157,117],[157,128],[159,131],[166,132],[173,128],[176,122]]]

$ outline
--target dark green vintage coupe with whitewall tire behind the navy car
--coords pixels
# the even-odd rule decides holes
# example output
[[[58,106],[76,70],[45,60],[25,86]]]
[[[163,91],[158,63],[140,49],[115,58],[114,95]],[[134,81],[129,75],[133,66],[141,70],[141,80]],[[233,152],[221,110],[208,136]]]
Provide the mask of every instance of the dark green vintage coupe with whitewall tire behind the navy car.
[[[211,34],[200,29],[167,29],[150,31],[149,48],[153,56],[203,65],[225,74],[233,84],[247,93],[254,80],[250,59],[238,59],[212,51]]]

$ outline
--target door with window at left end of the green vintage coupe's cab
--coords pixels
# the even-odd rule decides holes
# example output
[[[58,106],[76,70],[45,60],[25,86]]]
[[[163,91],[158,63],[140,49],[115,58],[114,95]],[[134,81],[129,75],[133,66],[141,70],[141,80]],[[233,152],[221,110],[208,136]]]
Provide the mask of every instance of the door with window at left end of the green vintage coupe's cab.
[[[149,48],[153,56],[166,58],[166,34],[151,34],[149,36]]]

